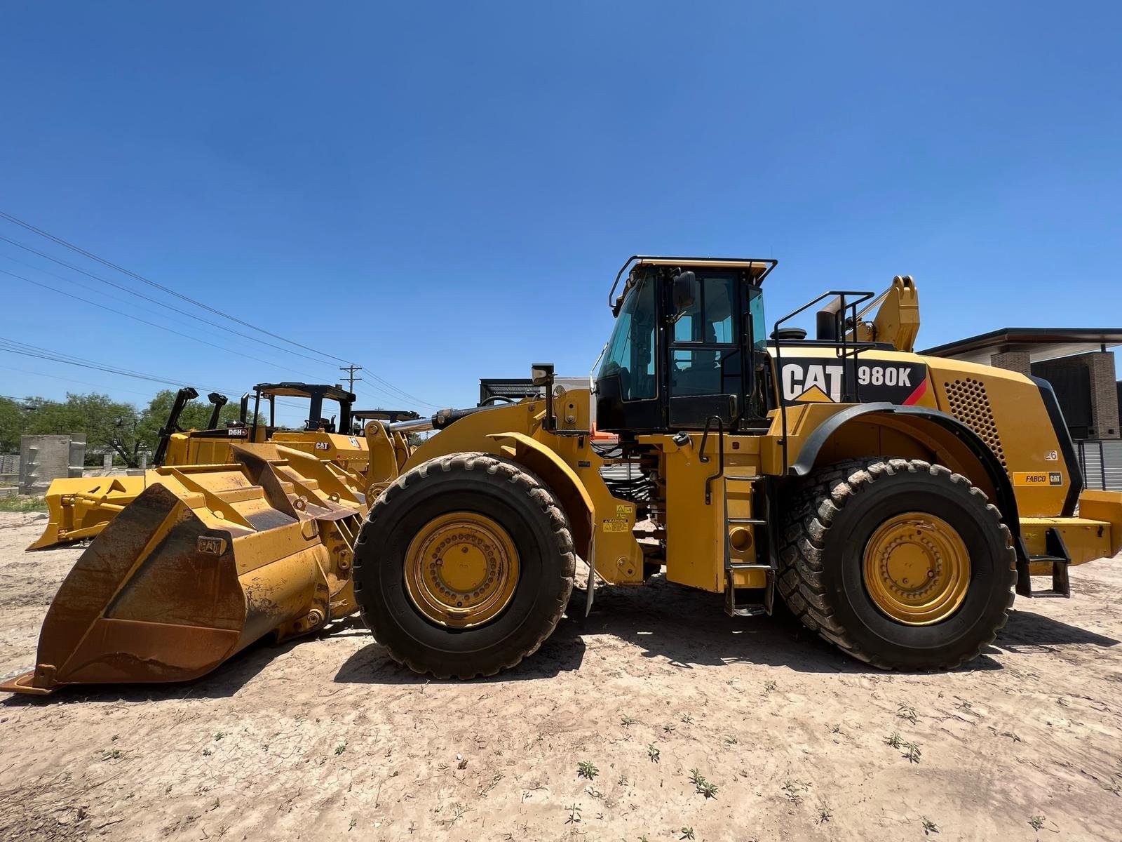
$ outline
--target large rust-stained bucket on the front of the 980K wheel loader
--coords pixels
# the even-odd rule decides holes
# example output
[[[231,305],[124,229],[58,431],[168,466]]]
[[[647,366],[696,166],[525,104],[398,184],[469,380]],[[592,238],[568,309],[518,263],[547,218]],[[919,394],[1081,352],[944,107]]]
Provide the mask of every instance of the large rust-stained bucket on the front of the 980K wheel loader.
[[[351,613],[365,498],[297,451],[248,445],[236,458],[153,472],[159,482],[59,587],[35,669],[0,689],[186,680],[266,634],[279,641]]]

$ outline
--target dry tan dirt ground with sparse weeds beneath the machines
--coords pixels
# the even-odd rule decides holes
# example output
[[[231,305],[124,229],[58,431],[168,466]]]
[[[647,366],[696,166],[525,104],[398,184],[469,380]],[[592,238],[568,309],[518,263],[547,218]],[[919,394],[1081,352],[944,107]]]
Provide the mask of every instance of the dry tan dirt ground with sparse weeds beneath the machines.
[[[38,518],[0,514],[6,677],[79,552],[24,553]],[[946,674],[659,578],[489,680],[350,624],[187,685],[6,697],[0,839],[1122,840],[1122,558],[1072,579]]]

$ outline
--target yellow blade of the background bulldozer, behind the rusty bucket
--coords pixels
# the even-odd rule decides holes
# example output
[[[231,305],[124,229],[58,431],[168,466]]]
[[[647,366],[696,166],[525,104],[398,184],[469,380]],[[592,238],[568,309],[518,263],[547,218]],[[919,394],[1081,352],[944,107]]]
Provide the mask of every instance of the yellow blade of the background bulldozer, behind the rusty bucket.
[[[93,538],[145,489],[144,476],[55,479],[47,488],[47,528],[27,549]]]

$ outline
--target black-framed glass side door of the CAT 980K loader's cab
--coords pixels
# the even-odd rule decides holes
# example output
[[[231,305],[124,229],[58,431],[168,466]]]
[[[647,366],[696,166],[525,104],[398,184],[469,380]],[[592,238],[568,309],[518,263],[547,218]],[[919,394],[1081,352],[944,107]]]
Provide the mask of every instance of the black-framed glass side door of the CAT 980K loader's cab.
[[[745,291],[736,273],[692,273],[672,293],[668,308],[666,391],[671,429],[699,429],[711,417],[726,430],[744,414],[746,381],[751,378]]]

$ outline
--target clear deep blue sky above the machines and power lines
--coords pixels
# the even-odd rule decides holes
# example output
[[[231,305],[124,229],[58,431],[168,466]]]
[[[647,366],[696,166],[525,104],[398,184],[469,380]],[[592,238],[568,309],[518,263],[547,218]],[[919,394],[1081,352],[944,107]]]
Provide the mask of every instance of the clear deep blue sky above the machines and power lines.
[[[1107,3],[8,3],[0,209],[365,365],[366,405],[408,403],[371,374],[470,405],[532,361],[587,373],[633,253],[776,257],[772,318],[910,273],[921,347],[1118,327],[1120,25]],[[228,350],[0,275],[8,339],[231,392],[339,376],[2,241],[0,269]],[[2,394],[154,387],[0,366]]]

